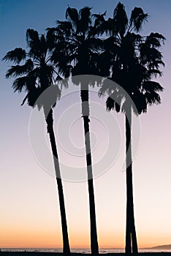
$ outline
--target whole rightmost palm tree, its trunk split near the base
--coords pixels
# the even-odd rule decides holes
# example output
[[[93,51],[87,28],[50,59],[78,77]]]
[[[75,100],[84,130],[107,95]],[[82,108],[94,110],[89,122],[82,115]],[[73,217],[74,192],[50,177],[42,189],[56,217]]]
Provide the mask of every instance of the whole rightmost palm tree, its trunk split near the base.
[[[164,37],[151,33],[146,37],[138,32],[148,14],[135,7],[128,19],[123,4],[118,3],[113,18],[99,26],[99,33],[106,32],[106,54],[110,53],[110,76],[115,82],[104,80],[99,95],[107,93],[107,110],[125,114],[126,127],[126,255],[137,255],[137,236],[134,224],[132,184],[132,110],[136,115],[146,113],[148,105],[159,104],[161,85],[153,77],[161,76],[164,65],[159,51]]]

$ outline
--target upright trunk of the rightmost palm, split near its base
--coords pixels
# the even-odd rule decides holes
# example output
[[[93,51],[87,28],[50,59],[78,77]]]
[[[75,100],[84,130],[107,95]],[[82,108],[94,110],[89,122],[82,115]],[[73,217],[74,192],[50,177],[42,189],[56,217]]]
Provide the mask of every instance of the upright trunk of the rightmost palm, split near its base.
[[[137,255],[132,187],[132,108],[126,110],[126,255]]]

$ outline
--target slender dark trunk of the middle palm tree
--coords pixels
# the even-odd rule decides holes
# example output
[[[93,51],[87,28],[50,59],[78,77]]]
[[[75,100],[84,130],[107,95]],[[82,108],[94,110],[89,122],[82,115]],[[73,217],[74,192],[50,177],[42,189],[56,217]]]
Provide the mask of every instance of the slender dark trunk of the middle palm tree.
[[[88,195],[89,195],[89,207],[90,207],[90,228],[91,228],[91,253],[92,255],[99,254],[99,246],[96,232],[96,210],[94,200],[94,183],[93,172],[91,165],[91,142],[89,132],[89,104],[88,104],[88,85],[81,83],[80,96],[82,100],[82,113],[84,122],[85,133],[85,145],[86,145],[86,163],[88,173]]]

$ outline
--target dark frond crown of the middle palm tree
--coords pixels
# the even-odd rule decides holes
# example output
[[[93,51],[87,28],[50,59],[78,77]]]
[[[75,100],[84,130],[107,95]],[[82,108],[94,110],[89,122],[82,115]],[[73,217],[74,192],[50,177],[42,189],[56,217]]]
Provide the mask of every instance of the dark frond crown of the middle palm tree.
[[[58,21],[56,29],[48,29],[57,36],[58,48],[53,52],[53,60],[64,78],[71,74],[98,75],[96,58],[102,41],[94,34],[93,17],[90,7],[79,12],[68,7],[66,21]]]

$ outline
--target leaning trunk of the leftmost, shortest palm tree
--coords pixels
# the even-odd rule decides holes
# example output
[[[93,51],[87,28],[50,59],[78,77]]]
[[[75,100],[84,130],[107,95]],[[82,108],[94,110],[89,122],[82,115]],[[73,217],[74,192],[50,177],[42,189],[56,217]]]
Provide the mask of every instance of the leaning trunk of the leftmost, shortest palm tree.
[[[46,116],[46,115],[45,115]],[[50,138],[50,145],[53,151],[53,161],[56,170],[56,181],[58,186],[58,197],[59,197],[59,205],[61,211],[61,227],[62,227],[62,236],[63,236],[63,252],[65,255],[70,254],[69,248],[69,238],[68,238],[68,230],[67,230],[67,223],[66,223],[66,212],[65,212],[65,205],[64,205],[64,192],[61,182],[61,173],[58,163],[58,152],[56,147],[56,139],[53,131],[53,110],[50,109],[49,113],[46,116],[47,122],[47,133],[49,134]]]

